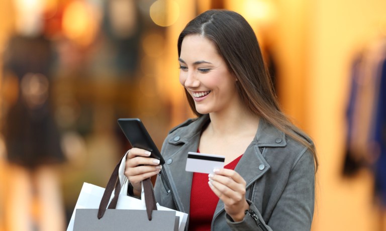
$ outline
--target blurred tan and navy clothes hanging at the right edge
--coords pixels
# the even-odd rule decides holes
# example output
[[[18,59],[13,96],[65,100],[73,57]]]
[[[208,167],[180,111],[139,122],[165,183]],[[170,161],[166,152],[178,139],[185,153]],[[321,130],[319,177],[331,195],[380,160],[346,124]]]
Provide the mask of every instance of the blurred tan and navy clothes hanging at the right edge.
[[[344,175],[366,167],[386,208],[386,38],[372,41],[352,68]]]

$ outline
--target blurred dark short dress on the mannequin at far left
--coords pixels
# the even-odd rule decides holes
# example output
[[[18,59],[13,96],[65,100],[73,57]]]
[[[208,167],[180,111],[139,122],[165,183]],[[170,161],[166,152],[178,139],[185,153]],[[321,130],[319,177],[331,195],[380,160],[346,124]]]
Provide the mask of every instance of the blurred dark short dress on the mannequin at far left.
[[[39,38],[14,37],[4,69],[19,79],[19,96],[5,115],[4,137],[11,163],[28,168],[62,163],[60,134],[50,105],[51,44]]]

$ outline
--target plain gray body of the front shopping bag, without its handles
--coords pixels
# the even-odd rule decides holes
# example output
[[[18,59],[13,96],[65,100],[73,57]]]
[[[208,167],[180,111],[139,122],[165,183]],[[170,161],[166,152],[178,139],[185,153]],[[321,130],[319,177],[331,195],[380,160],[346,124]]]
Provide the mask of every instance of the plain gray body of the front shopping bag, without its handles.
[[[107,209],[101,219],[97,217],[98,209],[76,209],[74,231],[99,230],[178,230],[179,217],[175,211],[153,210],[152,219],[146,210]]]

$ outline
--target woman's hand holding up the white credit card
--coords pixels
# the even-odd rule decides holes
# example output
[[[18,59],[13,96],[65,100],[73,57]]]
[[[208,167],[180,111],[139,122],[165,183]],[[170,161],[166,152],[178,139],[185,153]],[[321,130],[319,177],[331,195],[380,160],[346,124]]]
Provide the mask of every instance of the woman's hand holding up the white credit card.
[[[225,211],[234,221],[244,219],[249,204],[245,199],[245,180],[234,170],[215,169],[209,174],[209,186],[224,202]]]

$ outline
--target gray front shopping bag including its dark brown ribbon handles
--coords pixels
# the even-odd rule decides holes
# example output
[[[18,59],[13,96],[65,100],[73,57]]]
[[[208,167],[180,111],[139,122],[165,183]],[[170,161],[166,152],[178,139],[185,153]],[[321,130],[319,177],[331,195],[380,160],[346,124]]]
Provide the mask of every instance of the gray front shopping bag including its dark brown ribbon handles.
[[[157,210],[150,178],[142,181],[146,210],[116,209],[121,191],[118,172],[124,157],[111,174],[99,209],[76,209],[73,230],[178,230],[179,217],[175,211]],[[110,199],[113,192],[114,197]]]

